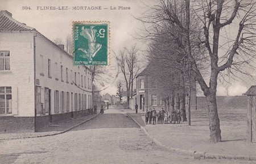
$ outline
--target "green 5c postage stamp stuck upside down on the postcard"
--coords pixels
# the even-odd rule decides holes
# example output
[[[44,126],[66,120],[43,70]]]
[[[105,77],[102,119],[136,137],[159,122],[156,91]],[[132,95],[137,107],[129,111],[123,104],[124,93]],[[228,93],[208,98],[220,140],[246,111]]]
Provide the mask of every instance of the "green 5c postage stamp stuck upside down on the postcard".
[[[108,22],[73,22],[73,41],[74,65],[108,65]]]

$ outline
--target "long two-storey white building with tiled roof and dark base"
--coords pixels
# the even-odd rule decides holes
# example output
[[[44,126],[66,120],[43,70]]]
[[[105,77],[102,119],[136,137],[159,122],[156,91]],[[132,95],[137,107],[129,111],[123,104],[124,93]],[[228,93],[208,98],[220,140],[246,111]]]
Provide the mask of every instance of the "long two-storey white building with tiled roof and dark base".
[[[37,131],[92,107],[92,73],[49,39],[0,12],[0,132]]]

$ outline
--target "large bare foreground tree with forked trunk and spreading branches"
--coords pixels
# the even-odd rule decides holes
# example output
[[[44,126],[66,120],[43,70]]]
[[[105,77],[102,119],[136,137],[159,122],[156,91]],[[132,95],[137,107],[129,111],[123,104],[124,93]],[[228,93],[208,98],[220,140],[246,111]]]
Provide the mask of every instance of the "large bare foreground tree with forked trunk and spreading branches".
[[[203,90],[208,103],[210,141],[221,141],[220,120],[218,118],[216,91],[217,79],[220,72],[242,72],[247,74],[242,66],[249,64],[251,58],[255,58],[255,2],[253,1],[160,1],[159,5],[152,7],[154,15],[145,23],[168,24],[172,29],[168,33],[171,39],[176,39],[183,49],[184,58],[189,70],[195,75]],[[185,14],[184,12],[185,11]],[[191,28],[195,15],[198,27],[203,31],[194,31]],[[193,20],[193,21],[192,21]],[[239,22],[239,23],[237,23]],[[236,36],[228,36],[226,27],[237,27]],[[207,53],[197,56],[193,52],[191,42],[193,33],[198,34],[200,40],[198,46],[205,47]],[[200,34],[204,37],[200,37]],[[233,35],[234,33],[232,33]],[[223,37],[227,36],[227,37]],[[230,45],[230,46],[228,46]],[[181,51],[182,51],[181,49]],[[200,66],[201,61],[209,62],[209,76],[204,78],[204,72]],[[206,79],[206,80],[205,80]],[[207,85],[207,81],[209,84]]]

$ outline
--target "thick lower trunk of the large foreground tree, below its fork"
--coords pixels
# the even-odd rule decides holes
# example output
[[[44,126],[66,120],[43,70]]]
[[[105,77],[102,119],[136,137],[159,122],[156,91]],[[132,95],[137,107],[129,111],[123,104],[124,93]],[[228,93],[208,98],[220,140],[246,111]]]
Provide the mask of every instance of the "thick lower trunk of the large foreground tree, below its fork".
[[[209,128],[210,128],[210,141],[221,142],[221,129],[220,119],[218,119],[216,93],[211,91],[208,95],[205,95],[208,104],[209,113]]]

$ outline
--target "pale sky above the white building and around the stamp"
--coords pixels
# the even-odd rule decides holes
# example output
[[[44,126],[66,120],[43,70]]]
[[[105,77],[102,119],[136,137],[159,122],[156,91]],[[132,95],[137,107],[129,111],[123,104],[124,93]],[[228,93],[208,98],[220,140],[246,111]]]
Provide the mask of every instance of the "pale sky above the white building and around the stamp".
[[[1,10],[7,10],[13,14],[13,18],[21,23],[26,23],[27,26],[34,27],[50,40],[60,38],[63,41],[67,35],[72,35],[73,21],[95,21],[107,20],[110,22],[110,48],[113,52],[118,52],[123,47],[130,47],[133,44],[141,49],[145,48],[145,44],[134,39],[136,32],[142,28],[142,24],[135,20],[133,16],[142,16],[146,10],[146,4],[154,4],[154,1],[68,1],[68,0],[0,0]],[[30,6],[32,10],[22,10],[22,6]],[[68,6],[71,10],[37,10],[37,6]],[[102,6],[102,10],[72,10],[73,6]],[[110,6],[118,8],[118,6],[130,7],[130,10],[109,10]],[[104,8],[108,10],[104,10]],[[113,57],[113,56],[112,56]],[[116,66],[112,62],[112,66]],[[256,85],[251,79],[245,82],[230,81],[232,84],[222,85],[218,82],[218,95],[241,95],[250,85]],[[116,83],[113,82],[108,89],[101,92],[105,94],[116,94]]]

